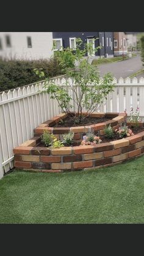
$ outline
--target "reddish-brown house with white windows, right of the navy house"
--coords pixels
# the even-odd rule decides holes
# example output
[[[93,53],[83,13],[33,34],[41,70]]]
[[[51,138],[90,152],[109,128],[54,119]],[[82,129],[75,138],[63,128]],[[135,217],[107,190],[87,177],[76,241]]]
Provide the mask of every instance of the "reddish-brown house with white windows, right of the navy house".
[[[114,56],[124,56],[128,53],[127,37],[124,32],[113,32]]]

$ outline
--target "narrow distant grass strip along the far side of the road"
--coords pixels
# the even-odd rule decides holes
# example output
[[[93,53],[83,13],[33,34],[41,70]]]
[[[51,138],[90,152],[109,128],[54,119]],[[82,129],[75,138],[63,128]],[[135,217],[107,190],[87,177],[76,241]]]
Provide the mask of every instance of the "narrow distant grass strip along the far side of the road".
[[[132,57],[137,56],[137,54],[132,53]],[[118,56],[118,57],[113,57],[113,58],[101,58],[101,59],[93,59],[92,60],[92,65],[99,65],[99,64],[107,64],[107,63],[112,63],[112,62],[117,62],[119,60],[126,60],[129,59],[128,56]]]

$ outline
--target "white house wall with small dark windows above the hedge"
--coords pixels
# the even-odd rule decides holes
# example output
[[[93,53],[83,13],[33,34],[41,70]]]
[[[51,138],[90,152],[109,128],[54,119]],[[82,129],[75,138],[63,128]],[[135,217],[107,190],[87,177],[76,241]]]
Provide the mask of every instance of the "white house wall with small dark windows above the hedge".
[[[52,32],[0,32],[2,59],[47,59],[52,55]]]

